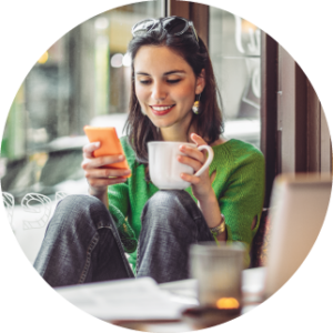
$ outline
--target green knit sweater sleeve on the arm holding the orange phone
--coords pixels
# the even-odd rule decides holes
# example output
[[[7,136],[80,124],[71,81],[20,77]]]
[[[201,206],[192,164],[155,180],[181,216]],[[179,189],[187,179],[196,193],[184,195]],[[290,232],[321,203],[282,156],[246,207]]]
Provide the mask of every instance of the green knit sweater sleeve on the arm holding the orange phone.
[[[120,139],[128,163],[133,174],[133,157],[125,144],[125,138]],[[130,213],[129,179],[127,182],[108,186],[109,211],[114,219],[123,249],[128,253],[137,250],[138,240],[128,221]]]

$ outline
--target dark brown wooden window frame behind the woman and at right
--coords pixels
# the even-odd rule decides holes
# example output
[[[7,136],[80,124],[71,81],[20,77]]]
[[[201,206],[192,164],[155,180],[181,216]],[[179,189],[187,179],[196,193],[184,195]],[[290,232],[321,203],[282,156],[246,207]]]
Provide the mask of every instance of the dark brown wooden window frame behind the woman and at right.
[[[167,0],[167,16],[193,21],[209,48],[209,4]],[[332,133],[312,81],[292,54],[261,30],[261,151],[265,157],[265,200],[283,172],[332,174]]]

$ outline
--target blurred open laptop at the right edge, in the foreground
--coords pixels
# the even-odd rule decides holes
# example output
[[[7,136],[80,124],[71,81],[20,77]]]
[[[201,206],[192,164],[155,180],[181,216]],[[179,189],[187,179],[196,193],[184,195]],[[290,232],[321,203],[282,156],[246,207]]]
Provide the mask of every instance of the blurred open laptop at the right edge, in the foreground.
[[[275,178],[269,213],[271,234],[264,302],[287,284],[311,254],[327,219],[332,194],[332,174]]]

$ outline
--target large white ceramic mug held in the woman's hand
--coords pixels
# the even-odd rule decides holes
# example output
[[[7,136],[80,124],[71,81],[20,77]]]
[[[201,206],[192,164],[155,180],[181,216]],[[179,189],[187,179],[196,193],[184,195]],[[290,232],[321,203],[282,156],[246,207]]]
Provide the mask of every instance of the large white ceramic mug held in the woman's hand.
[[[192,167],[183,164],[176,159],[178,155],[185,155],[179,150],[182,144],[196,148],[194,143],[188,142],[152,141],[148,143],[150,179],[160,190],[183,190],[191,185],[180,176],[181,173],[194,173]],[[196,149],[209,152],[206,161],[195,173],[199,176],[211,164],[214,151],[210,145],[200,145]]]

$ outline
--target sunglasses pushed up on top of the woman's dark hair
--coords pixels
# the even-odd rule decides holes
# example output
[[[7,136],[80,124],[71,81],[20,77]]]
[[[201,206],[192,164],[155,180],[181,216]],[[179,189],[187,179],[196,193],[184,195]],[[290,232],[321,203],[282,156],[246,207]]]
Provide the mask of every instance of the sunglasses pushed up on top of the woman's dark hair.
[[[167,33],[174,36],[180,36],[184,33],[191,27],[195,40],[199,43],[199,38],[194,29],[193,22],[180,17],[168,17],[163,18],[161,21],[155,19],[142,20],[133,26],[132,34],[133,37],[144,36],[152,31],[155,27],[158,27],[160,22],[162,24],[162,28],[167,31]]]

